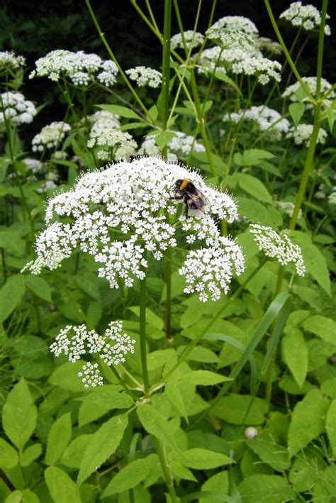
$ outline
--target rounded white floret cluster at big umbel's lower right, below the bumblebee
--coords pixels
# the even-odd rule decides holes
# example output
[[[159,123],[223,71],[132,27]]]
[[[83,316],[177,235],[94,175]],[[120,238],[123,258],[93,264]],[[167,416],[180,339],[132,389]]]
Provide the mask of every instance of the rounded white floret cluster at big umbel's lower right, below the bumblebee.
[[[209,297],[213,301],[220,299],[222,291],[226,295],[233,270],[240,275],[245,269],[242,250],[230,238],[209,238],[207,244],[206,248],[191,250],[179,270],[186,279],[184,292],[197,292],[201,302],[206,302]]]

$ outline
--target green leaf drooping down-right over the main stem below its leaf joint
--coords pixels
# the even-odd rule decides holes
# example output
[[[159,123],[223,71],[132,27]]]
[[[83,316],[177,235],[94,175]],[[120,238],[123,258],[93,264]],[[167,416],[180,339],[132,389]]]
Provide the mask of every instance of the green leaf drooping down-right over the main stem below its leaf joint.
[[[179,451],[173,436],[172,426],[167,419],[150,404],[142,404],[137,409],[139,419],[145,430],[165,445]]]

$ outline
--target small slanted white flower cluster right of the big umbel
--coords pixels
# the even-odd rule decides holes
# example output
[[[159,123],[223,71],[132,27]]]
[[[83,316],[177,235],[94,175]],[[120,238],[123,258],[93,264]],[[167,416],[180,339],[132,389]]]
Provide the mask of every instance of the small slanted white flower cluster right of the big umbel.
[[[250,226],[250,233],[252,233],[259,250],[264,252],[267,257],[275,258],[281,265],[293,262],[299,276],[306,274],[301,248],[294,245],[286,233],[279,236],[271,227],[260,226],[258,223],[253,223]]]

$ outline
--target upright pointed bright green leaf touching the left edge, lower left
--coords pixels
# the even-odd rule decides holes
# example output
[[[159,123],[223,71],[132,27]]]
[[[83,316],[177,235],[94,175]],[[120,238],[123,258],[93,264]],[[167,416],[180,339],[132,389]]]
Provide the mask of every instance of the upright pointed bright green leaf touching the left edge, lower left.
[[[2,424],[9,440],[22,450],[35,430],[38,411],[22,378],[11,390],[2,411]]]

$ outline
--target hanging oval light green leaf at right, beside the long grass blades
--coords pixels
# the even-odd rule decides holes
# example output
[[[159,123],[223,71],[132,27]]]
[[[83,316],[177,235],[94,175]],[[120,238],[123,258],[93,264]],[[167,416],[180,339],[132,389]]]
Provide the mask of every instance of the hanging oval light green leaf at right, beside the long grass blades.
[[[298,387],[303,386],[308,371],[308,348],[301,330],[287,326],[282,338],[284,360],[291,370]]]

